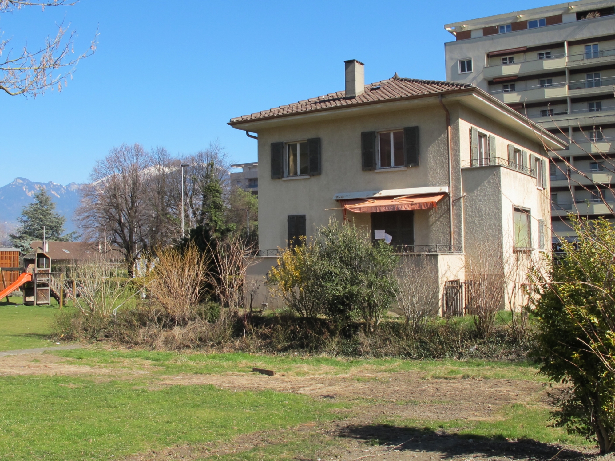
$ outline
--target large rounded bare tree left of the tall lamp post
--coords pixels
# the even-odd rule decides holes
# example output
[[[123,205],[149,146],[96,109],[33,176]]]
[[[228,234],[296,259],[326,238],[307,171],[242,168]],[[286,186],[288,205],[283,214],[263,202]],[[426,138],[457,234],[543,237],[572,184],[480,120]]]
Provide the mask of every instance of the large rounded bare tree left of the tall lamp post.
[[[85,237],[101,240],[106,234],[121,248],[131,277],[145,248],[149,179],[156,173],[153,157],[140,144],[113,148],[93,168],[75,212]]]

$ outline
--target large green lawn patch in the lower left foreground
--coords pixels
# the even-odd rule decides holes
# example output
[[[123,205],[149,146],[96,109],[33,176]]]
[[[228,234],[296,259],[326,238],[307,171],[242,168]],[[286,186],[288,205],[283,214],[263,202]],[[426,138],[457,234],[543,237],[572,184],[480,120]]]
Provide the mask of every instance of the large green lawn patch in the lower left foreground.
[[[0,401],[0,453],[70,461],[216,444],[241,433],[335,419],[335,409],[344,407],[292,393],[58,376],[2,377]]]

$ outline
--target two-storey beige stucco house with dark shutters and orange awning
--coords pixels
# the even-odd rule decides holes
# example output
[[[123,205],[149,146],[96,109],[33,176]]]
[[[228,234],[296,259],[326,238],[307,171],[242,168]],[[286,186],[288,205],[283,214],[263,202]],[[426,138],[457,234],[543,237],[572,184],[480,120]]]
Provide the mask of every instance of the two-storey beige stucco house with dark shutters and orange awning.
[[[474,85],[397,74],[365,85],[355,60],[345,73],[344,91],[229,122],[258,135],[250,277],[263,280],[277,248],[332,216],[420,261],[443,295],[485,246],[504,259],[549,251],[546,165],[562,141]]]

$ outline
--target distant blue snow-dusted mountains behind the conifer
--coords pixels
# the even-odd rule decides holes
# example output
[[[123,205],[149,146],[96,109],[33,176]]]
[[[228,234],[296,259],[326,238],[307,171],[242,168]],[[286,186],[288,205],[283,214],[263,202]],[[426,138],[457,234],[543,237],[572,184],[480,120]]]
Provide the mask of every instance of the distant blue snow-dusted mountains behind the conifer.
[[[81,184],[70,183],[66,186],[49,183],[37,183],[26,178],[15,178],[6,186],[0,187],[0,224],[7,232],[11,232],[17,225],[17,217],[22,214],[23,207],[34,203],[34,192],[45,187],[55,202],[55,210],[66,218],[66,232],[76,230],[73,223],[75,209],[79,206]]]

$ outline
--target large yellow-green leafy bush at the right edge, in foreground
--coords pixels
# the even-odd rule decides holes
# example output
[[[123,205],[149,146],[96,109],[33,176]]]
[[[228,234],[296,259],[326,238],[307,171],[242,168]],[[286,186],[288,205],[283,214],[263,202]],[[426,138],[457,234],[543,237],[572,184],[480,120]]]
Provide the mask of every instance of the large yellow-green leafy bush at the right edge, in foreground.
[[[532,357],[569,390],[555,397],[556,424],[595,438],[600,452],[615,442],[615,226],[571,216],[576,242],[563,242],[552,277],[534,274],[538,334]]]

